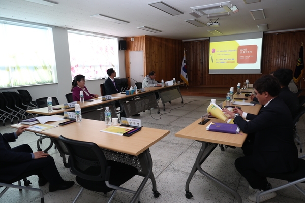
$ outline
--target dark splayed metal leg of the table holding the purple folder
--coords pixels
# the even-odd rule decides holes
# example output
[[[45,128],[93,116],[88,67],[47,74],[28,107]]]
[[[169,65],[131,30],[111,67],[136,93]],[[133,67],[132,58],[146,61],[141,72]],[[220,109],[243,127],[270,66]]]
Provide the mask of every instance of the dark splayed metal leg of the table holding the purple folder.
[[[198,142],[200,142],[200,141],[198,141]],[[202,163],[204,162],[204,160],[205,160],[205,159],[207,158],[207,156],[212,152],[212,150],[215,149],[215,147],[216,147],[217,145],[214,146],[214,148],[211,149],[207,155],[203,156],[203,155],[204,155],[204,150],[206,149],[206,146],[207,146],[207,143],[201,142],[200,151],[199,151],[199,153],[198,153],[198,155],[197,155],[197,158],[196,158],[196,161],[195,161],[194,166],[193,166],[193,168],[192,168],[192,171],[191,171],[191,173],[190,173],[190,175],[189,175],[189,177],[188,177],[188,180],[187,180],[187,182],[186,182],[186,197],[187,197],[187,198],[193,197],[193,196],[192,196],[192,193],[189,191],[189,185],[190,185],[190,182],[191,182],[191,180],[192,180],[192,178],[193,178],[195,172],[198,170],[201,174],[203,174],[203,175],[206,176],[207,178],[209,178],[209,179],[215,181],[215,182],[216,182],[217,184],[219,184],[222,188],[224,188],[224,189],[226,189],[227,191],[229,191],[230,193],[232,193],[232,194],[237,198],[237,201],[238,201],[239,203],[241,203],[241,202],[242,202],[242,199],[241,199],[240,195],[239,195],[236,191],[234,191],[232,188],[230,188],[229,186],[227,186],[226,184],[224,184],[223,182],[221,182],[221,181],[218,180],[217,178],[211,176],[210,174],[208,174],[207,172],[205,172],[205,171],[201,168],[201,165],[202,165]],[[203,158],[203,159],[202,159],[202,158]]]

